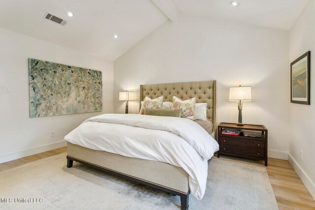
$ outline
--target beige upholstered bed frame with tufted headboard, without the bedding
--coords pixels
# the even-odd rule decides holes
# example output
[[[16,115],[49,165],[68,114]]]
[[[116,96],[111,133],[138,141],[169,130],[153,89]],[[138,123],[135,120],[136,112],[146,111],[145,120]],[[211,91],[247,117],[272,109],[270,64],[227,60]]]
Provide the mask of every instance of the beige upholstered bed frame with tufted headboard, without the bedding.
[[[182,100],[197,97],[197,103],[207,103],[208,122],[196,122],[213,138],[216,136],[216,81],[140,86],[140,101],[146,96],[157,98],[161,95],[164,96],[164,101],[171,101],[174,95]],[[125,120],[128,120],[128,116],[132,117],[131,115],[125,116]],[[111,116],[109,116],[105,120],[114,119],[111,119]],[[174,118],[174,120],[176,119]],[[195,122],[188,120],[188,123]],[[73,161],[76,161],[128,180],[155,187],[180,196],[181,209],[187,210],[189,208],[189,179],[191,180],[191,174],[188,174],[187,170],[185,171],[182,167],[175,166],[176,164],[171,165],[161,161],[128,157],[117,154],[116,152],[90,148],[84,144],[78,145],[67,141],[67,167],[72,167]],[[165,171],[168,173],[165,173]]]

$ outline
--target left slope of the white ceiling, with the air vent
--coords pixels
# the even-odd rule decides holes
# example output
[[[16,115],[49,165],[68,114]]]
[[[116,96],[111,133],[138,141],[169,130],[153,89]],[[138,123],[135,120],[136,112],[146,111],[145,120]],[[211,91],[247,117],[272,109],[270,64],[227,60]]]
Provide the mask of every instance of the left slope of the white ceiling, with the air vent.
[[[44,19],[47,12],[66,25]],[[151,0],[0,0],[1,28],[107,60],[124,54],[166,20]]]

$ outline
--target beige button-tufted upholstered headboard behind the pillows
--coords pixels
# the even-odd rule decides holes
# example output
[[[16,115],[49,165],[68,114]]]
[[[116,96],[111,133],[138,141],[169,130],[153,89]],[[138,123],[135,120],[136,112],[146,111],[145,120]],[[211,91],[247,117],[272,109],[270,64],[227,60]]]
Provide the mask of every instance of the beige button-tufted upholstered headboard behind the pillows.
[[[207,103],[207,118],[213,123],[213,132],[216,131],[217,113],[217,81],[164,83],[154,85],[140,85],[140,102],[146,96],[154,99],[164,96],[165,101],[172,101],[173,95],[186,100],[197,97],[197,103]],[[141,106],[141,104],[140,104]]]

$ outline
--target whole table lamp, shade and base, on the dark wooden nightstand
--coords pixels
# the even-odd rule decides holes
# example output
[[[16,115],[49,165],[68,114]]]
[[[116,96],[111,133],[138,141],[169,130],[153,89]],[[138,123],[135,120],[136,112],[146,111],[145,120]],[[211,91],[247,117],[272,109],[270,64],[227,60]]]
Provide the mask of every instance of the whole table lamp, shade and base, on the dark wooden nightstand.
[[[252,101],[252,86],[230,87],[229,101],[240,101],[238,103],[238,123],[237,125],[244,125],[242,123],[242,101]]]

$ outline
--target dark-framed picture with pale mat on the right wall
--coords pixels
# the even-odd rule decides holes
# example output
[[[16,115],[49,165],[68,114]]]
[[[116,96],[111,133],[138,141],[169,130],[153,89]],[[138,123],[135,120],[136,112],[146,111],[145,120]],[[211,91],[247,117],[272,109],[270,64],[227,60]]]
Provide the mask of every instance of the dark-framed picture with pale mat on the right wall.
[[[310,105],[311,51],[291,62],[291,103]]]

